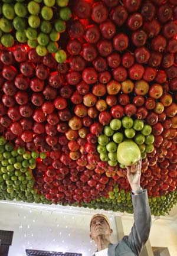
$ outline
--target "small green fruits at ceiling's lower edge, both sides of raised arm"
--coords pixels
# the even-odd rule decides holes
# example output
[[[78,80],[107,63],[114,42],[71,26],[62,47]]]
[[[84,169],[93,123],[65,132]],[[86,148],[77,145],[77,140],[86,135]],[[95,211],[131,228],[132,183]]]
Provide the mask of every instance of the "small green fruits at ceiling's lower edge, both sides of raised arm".
[[[158,197],[149,197],[149,206],[152,215],[164,216],[173,208],[177,203],[177,191],[168,193],[168,195],[162,195]],[[131,199],[131,193],[125,192],[124,189],[119,190],[118,185],[114,186],[114,189],[109,192],[109,197],[100,197],[95,200],[91,200],[89,204],[82,203],[84,208],[113,210],[114,212],[127,212],[133,213],[133,205]]]

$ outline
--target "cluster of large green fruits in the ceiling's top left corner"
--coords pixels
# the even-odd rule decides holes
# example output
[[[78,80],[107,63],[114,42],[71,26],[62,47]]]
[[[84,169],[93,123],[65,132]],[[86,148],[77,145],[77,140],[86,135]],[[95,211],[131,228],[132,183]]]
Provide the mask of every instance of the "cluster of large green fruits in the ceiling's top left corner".
[[[58,50],[60,33],[65,31],[65,21],[70,20],[69,0],[2,0],[0,4],[0,37],[5,47],[28,43],[38,55],[55,53],[55,59],[63,63],[65,51]]]

